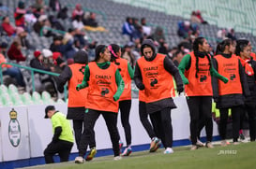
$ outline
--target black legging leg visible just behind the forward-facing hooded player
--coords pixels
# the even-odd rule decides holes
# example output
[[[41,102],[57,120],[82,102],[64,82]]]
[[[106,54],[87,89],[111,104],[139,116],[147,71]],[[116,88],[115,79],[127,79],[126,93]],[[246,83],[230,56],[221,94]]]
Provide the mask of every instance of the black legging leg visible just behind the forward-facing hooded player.
[[[156,134],[153,130],[153,127],[151,123],[148,120],[148,114],[145,110],[145,103],[140,101],[139,102],[139,115],[140,115],[140,120],[143,124],[143,127],[148,134],[148,136],[152,139],[153,137],[156,137]]]

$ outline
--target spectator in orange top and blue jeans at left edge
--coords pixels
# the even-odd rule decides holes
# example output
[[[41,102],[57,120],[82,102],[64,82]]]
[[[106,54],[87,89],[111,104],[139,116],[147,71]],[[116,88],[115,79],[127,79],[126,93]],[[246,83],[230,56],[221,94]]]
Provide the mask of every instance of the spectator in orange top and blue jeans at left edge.
[[[5,57],[5,50],[8,48],[8,44],[5,42],[2,42],[0,45],[0,63],[7,63],[7,59]],[[25,82],[23,79],[23,74],[21,70],[18,67],[13,67],[9,64],[3,64],[2,65],[2,71],[3,75],[8,75],[10,77],[13,77],[16,79],[18,88],[24,88]]]

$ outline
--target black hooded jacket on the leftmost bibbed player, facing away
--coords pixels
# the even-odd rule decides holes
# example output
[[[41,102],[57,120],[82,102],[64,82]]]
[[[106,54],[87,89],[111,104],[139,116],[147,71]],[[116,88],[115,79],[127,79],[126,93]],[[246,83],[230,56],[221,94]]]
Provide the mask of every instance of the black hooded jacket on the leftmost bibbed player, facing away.
[[[88,63],[88,56],[87,52],[84,50],[79,50],[74,55],[74,63],[81,63],[84,64]],[[57,77],[56,83],[57,83],[57,89],[59,92],[64,91],[64,85],[70,80],[72,77],[72,71],[69,66],[66,66],[63,70],[63,72]],[[72,99],[72,98],[68,98]],[[83,120],[85,107],[68,107],[68,120]]]

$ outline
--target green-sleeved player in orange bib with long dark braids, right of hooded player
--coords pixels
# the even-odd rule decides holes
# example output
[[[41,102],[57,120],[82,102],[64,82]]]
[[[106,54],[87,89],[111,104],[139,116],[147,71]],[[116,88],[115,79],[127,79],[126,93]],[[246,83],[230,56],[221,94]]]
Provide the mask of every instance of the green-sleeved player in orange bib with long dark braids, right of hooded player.
[[[203,146],[197,138],[205,124],[206,147],[213,148],[212,120],[212,76],[228,81],[218,75],[212,67],[211,56],[208,54],[209,44],[204,37],[198,37],[193,43],[193,51],[184,56],[179,64],[179,70],[185,85],[187,103],[190,113],[191,150]]]

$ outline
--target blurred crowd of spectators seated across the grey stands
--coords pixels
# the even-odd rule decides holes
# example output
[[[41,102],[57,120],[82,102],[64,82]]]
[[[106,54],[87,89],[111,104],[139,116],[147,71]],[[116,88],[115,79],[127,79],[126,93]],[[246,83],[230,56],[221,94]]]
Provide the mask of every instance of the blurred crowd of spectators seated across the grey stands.
[[[1,5],[0,11],[8,10],[7,8]],[[68,10],[72,10],[70,16],[68,16]],[[49,11],[53,12],[49,14]],[[32,6],[26,7],[23,1],[19,1],[13,16],[14,22],[10,21],[10,16],[7,13],[1,12],[0,14],[2,17],[1,34],[14,37],[11,38],[12,41],[3,45],[5,51],[1,52],[5,52],[3,53],[5,61],[25,63],[26,66],[54,73],[61,73],[66,64],[73,63],[73,56],[80,49],[87,50],[89,58],[91,58],[90,61],[93,60],[94,49],[98,42],[94,39],[88,40],[87,31],[106,32],[105,34],[108,34],[108,30],[98,24],[97,14],[85,12],[82,4],[76,4],[74,8],[71,8],[63,6],[59,0],[50,0],[47,6],[43,0],[36,0]],[[63,25],[62,21],[65,20],[71,22],[69,27]],[[191,51],[193,40],[201,35],[201,24],[208,23],[203,20],[200,10],[191,12],[190,21],[178,21],[177,35],[183,40],[171,47],[166,42],[166,30],[163,27],[152,26],[144,17],[128,16],[123,25],[120,25],[121,35],[124,38],[128,37],[126,44],[119,44],[122,47],[122,58],[127,59],[131,67],[134,67],[136,61],[141,57],[140,48],[143,40],[151,38],[154,40],[158,52],[168,55],[178,65],[182,57]],[[47,27],[51,29],[47,29]],[[58,30],[63,34],[53,30]],[[38,36],[53,39],[51,45],[43,50],[38,50],[27,39],[27,35],[32,32],[37,33]],[[219,30],[217,36],[219,40],[226,37],[236,39],[233,29],[229,31]],[[34,57],[28,57],[26,52],[23,52],[24,50],[33,51]],[[213,54],[213,50],[211,54]],[[20,75],[21,71],[17,74]],[[53,77],[50,78],[52,80]],[[43,80],[40,82],[42,83]],[[54,83],[54,79],[52,82]]]

